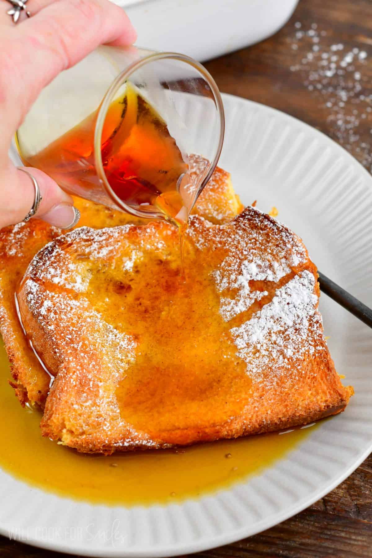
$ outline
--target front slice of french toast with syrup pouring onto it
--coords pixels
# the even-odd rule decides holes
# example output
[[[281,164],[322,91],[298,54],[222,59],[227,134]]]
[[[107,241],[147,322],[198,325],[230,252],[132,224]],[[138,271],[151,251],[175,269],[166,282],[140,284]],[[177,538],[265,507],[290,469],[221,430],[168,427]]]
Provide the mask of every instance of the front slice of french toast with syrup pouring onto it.
[[[343,411],[317,310],[317,270],[294,233],[249,207],[192,217],[185,273],[166,223],[56,238],[18,291],[55,378],[42,434],[85,453],[165,448],[302,425]]]

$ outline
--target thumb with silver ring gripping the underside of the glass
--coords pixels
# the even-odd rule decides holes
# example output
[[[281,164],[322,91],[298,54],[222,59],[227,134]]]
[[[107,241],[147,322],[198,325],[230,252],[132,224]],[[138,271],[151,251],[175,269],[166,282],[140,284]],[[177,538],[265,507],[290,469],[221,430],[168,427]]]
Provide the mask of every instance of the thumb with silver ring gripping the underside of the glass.
[[[20,168],[30,173],[40,189],[41,202],[35,217],[62,229],[73,227],[80,218],[73,198],[44,172],[32,167]],[[0,228],[23,221],[35,201],[35,186],[26,172],[9,163],[1,177]]]

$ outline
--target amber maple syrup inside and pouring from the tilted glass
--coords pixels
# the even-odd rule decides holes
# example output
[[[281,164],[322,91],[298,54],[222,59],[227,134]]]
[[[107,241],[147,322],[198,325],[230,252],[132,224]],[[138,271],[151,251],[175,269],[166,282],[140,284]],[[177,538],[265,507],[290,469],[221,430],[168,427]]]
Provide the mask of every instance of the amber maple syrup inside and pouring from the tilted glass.
[[[89,190],[101,188],[94,157],[98,112],[99,109],[91,113],[36,155],[23,157],[25,163],[43,170],[67,191],[72,190],[71,186],[76,191],[78,186],[80,195],[89,198]],[[101,156],[105,176],[120,200],[142,211],[155,207],[178,226],[182,255],[192,204],[187,196],[187,186],[191,184],[187,156],[177,146],[166,122],[129,83],[125,94],[108,108]]]

